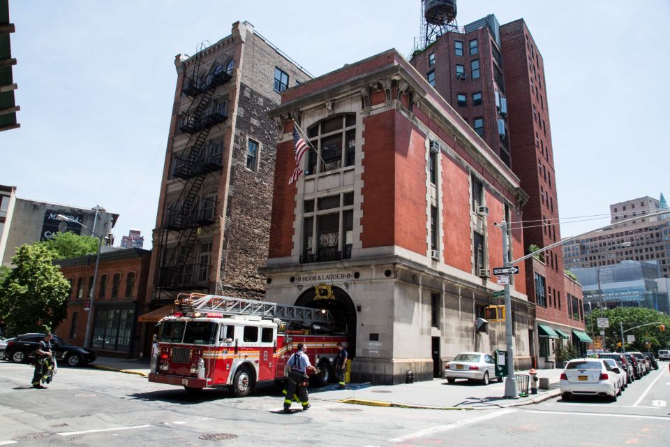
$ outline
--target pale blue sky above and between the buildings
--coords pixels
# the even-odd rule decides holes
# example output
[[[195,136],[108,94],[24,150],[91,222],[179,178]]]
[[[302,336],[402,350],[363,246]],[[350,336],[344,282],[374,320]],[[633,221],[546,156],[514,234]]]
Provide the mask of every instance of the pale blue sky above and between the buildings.
[[[150,248],[175,54],[248,20],[314,75],[419,36],[419,0],[10,0],[17,116],[0,133],[0,184],[17,196],[121,214]],[[562,218],[670,196],[670,2],[459,1],[459,24],[523,17],[545,62]],[[563,223],[563,236],[609,222]]]

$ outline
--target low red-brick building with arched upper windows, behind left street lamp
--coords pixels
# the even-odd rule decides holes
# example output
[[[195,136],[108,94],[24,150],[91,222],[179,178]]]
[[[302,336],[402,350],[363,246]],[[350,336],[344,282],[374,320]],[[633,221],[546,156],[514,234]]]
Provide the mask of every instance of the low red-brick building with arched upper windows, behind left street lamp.
[[[94,291],[91,348],[98,356],[137,358],[150,352],[153,325],[137,323],[148,308],[147,277],[151,251],[115,249],[100,256]],[[61,259],[61,272],[70,281],[68,318],[54,333],[70,344],[84,345],[96,256]]]

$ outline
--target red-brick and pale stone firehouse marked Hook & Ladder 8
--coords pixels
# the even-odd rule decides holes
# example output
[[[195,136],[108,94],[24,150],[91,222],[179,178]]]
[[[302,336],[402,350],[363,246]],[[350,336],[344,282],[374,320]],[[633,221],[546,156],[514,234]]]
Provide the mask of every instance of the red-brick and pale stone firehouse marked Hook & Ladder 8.
[[[519,178],[399,52],[283,91],[266,299],[327,309],[349,337],[352,381],[440,376],[463,351],[505,349],[496,222],[521,221]],[[295,120],[295,121],[294,121]],[[296,122],[315,150],[295,169]],[[318,152],[318,154],[317,154]],[[510,258],[523,254],[520,225]],[[514,228],[514,227],[512,227]],[[515,365],[530,367],[535,304],[512,279]]]

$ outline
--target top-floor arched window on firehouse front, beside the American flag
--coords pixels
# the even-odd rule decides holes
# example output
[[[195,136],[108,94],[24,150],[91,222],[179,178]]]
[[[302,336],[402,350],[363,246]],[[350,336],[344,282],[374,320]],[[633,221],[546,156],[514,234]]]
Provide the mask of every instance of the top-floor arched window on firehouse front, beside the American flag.
[[[356,115],[337,115],[313,124],[308,137],[321,159],[313,150],[308,152],[306,175],[353,166],[356,161]],[[319,163],[317,163],[319,161]]]

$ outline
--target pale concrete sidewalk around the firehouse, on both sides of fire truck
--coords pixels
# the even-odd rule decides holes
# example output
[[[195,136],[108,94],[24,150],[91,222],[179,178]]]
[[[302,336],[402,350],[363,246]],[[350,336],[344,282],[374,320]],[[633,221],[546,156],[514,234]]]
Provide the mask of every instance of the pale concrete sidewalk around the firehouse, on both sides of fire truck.
[[[107,369],[128,374],[149,375],[149,358],[125,359],[98,357],[91,367]],[[549,379],[549,390],[537,390],[537,394],[528,397],[507,399],[505,383],[497,381],[483,386],[458,380],[449,384],[445,379],[433,379],[401,385],[373,386],[368,383],[348,383],[344,390],[337,385],[322,388],[310,388],[312,400],[326,402],[345,402],[359,405],[400,406],[421,409],[492,409],[507,406],[530,405],[558,397],[558,382],[563,369],[537,369],[537,377]],[[516,374],[528,374],[528,371],[517,371]],[[539,383],[539,382],[538,382]],[[530,389],[528,390],[530,393]]]

